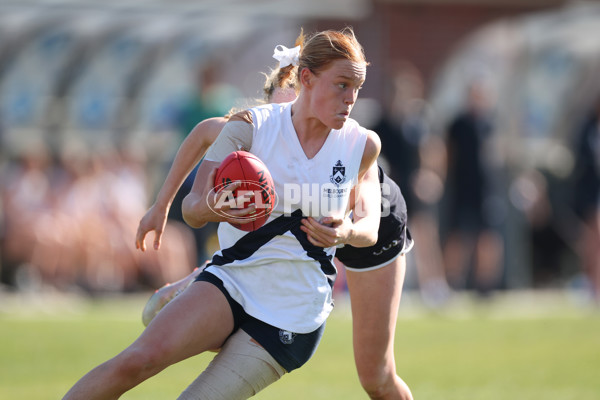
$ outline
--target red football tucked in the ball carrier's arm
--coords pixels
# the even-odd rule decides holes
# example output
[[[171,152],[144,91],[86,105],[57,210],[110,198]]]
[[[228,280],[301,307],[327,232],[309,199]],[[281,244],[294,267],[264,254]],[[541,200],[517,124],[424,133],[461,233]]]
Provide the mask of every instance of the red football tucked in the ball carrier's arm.
[[[254,203],[256,211],[247,216],[247,223],[232,225],[243,231],[254,231],[264,225],[275,207],[273,178],[260,158],[246,151],[234,151],[225,157],[217,169],[215,192],[227,190],[227,185],[235,181],[241,181],[242,184],[227,196],[225,202],[231,208],[246,208]]]

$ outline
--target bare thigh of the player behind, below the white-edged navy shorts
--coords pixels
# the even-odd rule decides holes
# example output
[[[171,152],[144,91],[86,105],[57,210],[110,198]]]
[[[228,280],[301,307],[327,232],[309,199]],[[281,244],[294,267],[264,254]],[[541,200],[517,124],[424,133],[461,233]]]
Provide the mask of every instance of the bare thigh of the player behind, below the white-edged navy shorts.
[[[385,345],[393,337],[405,270],[406,257],[400,255],[375,270],[346,271],[355,342]]]

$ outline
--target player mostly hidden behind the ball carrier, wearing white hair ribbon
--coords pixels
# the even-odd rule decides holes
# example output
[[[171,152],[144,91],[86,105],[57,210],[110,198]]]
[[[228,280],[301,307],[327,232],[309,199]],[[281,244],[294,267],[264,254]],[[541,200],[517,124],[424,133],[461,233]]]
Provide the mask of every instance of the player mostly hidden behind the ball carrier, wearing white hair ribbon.
[[[300,49],[298,42],[296,45],[293,49],[283,46],[275,48],[273,57],[280,65],[267,76],[265,101],[285,103],[296,98],[297,68],[293,60]],[[139,249],[145,251],[145,237],[150,231],[155,231],[154,248],[160,247],[170,201],[226,122],[226,118],[202,121],[181,145],[155,204],[140,221],[136,235],[136,246]],[[338,248],[336,258],[344,263],[351,288],[354,357],[361,384],[371,398],[409,400],[412,399],[410,389],[396,374],[393,343],[406,269],[404,254],[412,247],[412,239],[406,225],[407,211],[402,193],[398,185],[383,174],[381,169],[379,172],[382,216],[377,243],[370,247]],[[180,281],[157,290],[142,313],[144,325],[147,326],[165,304],[189,286],[198,274],[197,269]],[[222,354],[230,348],[228,346]],[[239,354],[239,349],[236,351]],[[239,361],[239,356],[235,359]],[[202,385],[203,379],[201,375],[186,392],[193,393]]]

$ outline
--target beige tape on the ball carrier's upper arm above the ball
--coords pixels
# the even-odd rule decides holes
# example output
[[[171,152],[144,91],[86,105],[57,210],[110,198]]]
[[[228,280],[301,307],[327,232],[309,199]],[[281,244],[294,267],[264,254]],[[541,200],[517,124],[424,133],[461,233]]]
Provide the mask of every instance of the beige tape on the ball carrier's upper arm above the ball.
[[[217,140],[210,146],[206,157],[207,161],[221,162],[233,151],[252,147],[252,133],[254,127],[243,121],[229,121],[219,133]]]

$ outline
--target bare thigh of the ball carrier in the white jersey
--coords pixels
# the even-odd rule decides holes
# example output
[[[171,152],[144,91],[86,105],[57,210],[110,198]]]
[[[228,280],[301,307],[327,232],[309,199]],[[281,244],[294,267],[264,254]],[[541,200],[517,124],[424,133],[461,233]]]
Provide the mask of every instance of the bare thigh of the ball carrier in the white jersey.
[[[211,283],[194,282],[158,313],[133,346],[172,364],[221,347],[232,330],[223,293]]]

